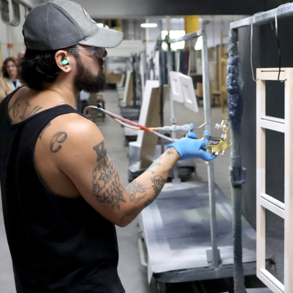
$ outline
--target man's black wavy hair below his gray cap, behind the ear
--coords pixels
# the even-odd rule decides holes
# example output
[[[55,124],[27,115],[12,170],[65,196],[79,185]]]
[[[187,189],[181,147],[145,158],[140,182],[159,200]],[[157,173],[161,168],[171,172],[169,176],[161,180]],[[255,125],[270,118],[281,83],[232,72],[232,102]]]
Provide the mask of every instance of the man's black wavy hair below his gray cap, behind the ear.
[[[76,47],[76,46],[73,46]],[[72,47],[71,47],[72,48]],[[60,74],[61,70],[55,62],[55,53],[53,51],[35,51],[26,49],[25,55],[21,60],[21,82],[35,90],[41,90],[43,82],[53,82]],[[79,58],[77,52],[68,52],[67,54]]]

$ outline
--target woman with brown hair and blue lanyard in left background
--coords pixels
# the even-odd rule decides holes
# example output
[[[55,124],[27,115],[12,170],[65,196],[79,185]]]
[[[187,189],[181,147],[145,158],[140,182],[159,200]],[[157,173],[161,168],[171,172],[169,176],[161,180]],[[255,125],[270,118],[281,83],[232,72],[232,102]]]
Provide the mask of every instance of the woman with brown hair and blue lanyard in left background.
[[[0,102],[12,91],[21,86],[18,80],[18,67],[16,59],[6,58],[2,66],[2,77],[0,77]]]

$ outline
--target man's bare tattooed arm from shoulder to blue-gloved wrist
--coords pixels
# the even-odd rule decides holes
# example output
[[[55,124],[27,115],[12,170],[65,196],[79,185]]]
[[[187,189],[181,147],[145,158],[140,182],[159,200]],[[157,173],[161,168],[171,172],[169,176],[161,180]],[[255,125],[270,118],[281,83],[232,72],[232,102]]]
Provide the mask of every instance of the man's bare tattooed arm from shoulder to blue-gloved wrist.
[[[124,188],[98,127],[77,114],[62,116],[51,121],[39,143],[97,212],[126,226],[160,193],[169,169],[180,159],[178,152],[169,148]]]

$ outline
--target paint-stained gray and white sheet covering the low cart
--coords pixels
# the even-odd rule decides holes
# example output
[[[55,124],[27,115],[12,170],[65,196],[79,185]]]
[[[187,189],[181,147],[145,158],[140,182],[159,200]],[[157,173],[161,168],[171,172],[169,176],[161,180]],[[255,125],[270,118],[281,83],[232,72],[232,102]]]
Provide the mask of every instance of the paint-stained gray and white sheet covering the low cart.
[[[222,264],[233,264],[232,210],[216,186],[218,248]],[[166,183],[140,215],[148,251],[148,279],[153,273],[208,267],[212,249],[207,183]],[[243,262],[256,261],[256,233],[242,217]]]

